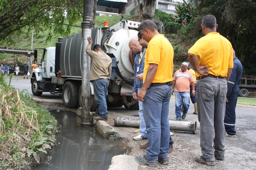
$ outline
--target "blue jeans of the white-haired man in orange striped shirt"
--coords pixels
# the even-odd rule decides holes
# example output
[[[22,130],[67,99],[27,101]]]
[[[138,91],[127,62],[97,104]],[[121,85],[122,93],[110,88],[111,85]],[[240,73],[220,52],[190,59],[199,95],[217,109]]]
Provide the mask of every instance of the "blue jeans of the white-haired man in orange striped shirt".
[[[184,107],[183,114],[187,114],[190,104],[190,93],[189,92],[177,92],[175,91],[175,114],[176,119],[181,119],[181,106]]]

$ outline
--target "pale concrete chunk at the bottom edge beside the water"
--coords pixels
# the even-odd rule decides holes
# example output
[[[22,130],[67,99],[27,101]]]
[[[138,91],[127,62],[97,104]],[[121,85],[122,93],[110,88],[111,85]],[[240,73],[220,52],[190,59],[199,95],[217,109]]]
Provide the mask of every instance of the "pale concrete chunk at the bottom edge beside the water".
[[[133,156],[116,155],[112,158],[111,165],[108,170],[140,170],[146,169],[145,166],[138,164]]]

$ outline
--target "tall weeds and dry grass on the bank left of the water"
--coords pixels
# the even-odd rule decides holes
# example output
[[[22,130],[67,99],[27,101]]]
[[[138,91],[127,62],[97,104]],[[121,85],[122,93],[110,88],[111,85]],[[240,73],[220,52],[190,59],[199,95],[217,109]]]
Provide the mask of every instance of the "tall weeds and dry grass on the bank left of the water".
[[[12,87],[11,79],[0,78],[0,169],[23,167],[13,162],[17,157],[22,164],[33,163],[31,158],[39,163],[39,153],[55,145],[57,121],[26,90]]]

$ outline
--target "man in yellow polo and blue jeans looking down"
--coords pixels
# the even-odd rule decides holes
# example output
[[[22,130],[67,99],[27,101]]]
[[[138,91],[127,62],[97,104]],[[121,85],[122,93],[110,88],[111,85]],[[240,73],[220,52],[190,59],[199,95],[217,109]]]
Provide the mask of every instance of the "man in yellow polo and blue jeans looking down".
[[[169,153],[169,101],[173,81],[174,51],[163,34],[157,32],[156,24],[145,20],[138,26],[142,37],[148,42],[143,72],[143,86],[138,100],[143,101],[143,114],[147,126],[147,153],[135,160],[151,167],[168,164]]]

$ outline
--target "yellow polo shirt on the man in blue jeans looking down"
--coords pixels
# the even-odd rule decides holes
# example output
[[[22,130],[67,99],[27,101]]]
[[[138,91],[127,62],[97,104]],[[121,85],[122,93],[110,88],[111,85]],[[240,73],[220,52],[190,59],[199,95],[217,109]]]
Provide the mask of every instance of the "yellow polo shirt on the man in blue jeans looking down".
[[[149,64],[158,64],[157,72],[152,83],[173,81],[173,56],[174,51],[171,43],[163,34],[155,35],[147,46],[143,82],[146,79]]]

